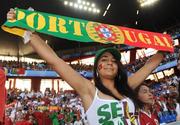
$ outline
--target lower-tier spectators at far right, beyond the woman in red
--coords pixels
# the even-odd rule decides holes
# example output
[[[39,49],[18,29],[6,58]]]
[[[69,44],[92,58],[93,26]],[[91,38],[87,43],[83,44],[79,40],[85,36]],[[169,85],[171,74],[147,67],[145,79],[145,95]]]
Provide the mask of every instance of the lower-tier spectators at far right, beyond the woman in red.
[[[180,77],[176,75],[166,76],[158,82],[149,81],[155,97],[154,109],[158,114],[160,123],[169,123],[176,120],[176,115],[180,113],[178,100],[178,86]],[[154,83],[154,84],[152,84]]]

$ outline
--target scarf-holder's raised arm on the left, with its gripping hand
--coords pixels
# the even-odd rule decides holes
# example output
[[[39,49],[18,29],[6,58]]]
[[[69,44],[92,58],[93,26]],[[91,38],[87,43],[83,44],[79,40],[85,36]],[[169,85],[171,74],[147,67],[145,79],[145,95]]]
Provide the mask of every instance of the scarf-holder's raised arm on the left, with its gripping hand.
[[[7,13],[7,19],[15,19],[15,10],[10,9]],[[56,53],[44,42],[44,40],[35,33],[30,33],[29,44],[38,53],[38,55],[49,63],[54,70],[65,80],[77,93],[85,98],[86,95],[93,97],[95,87],[92,83],[82,77],[74,69],[72,69],[64,60],[59,58]]]

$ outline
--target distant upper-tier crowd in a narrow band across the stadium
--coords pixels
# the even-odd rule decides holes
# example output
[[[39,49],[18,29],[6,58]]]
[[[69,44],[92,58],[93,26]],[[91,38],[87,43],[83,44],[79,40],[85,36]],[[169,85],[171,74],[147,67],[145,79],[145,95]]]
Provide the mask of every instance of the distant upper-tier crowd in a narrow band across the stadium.
[[[162,61],[160,65],[176,60],[178,57],[178,54],[177,54],[178,50],[179,50],[178,48],[175,48],[174,53],[167,54],[166,58],[164,58],[164,60]],[[126,64],[125,67],[127,68],[128,72],[134,73],[137,70],[139,70],[150,57],[151,56],[149,57],[145,56],[145,57],[136,59],[134,62]],[[80,71],[92,72],[93,71],[93,65],[86,65],[82,63],[77,63],[77,64],[70,63],[69,65],[78,72]],[[23,74],[25,70],[38,70],[38,71],[52,71],[53,70],[52,67],[49,66],[46,62],[28,63],[28,62],[21,62],[21,61],[18,62],[18,61],[0,60],[0,67],[4,67],[6,73],[10,73],[10,74]]]

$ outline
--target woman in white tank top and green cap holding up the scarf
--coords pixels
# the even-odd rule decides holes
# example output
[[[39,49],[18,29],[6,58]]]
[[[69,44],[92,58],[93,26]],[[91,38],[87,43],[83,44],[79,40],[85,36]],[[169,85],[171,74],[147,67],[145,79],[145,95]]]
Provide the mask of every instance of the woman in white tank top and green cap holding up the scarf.
[[[10,9],[7,19],[15,17],[14,9]],[[127,78],[119,51],[102,49],[95,57],[94,85],[59,58],[37,34],[28,33],[25,36],[29,36],[27,42],[41,58],[80,95],[90,125],[138,124],[131,100],[133,90],[159,65],[163,59],[161,53],[154,55],[145,66]]]

